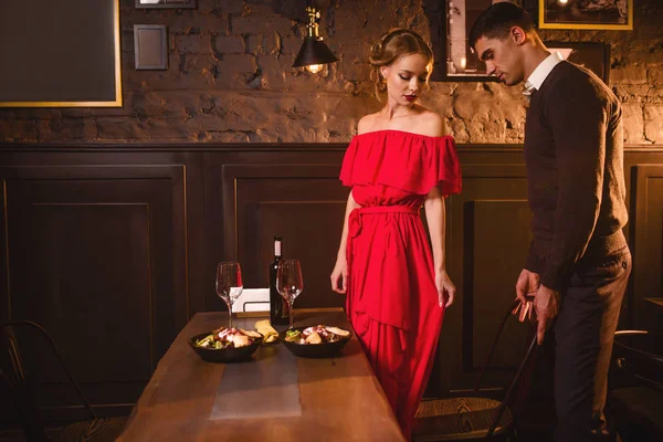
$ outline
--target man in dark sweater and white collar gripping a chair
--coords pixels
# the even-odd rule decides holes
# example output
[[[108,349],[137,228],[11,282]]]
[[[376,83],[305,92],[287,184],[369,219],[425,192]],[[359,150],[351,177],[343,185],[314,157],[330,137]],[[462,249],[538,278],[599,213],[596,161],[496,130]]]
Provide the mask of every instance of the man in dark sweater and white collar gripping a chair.
[[[527,12],[511,2],[478,17],[470,44],[490,74],[509,86],[526,81],[534,241],[516,294],[523,303],[534,296],[538,341],[554,343],[555,439],[598,440],[631,272],[621,105],[593,73],[548,52]]]

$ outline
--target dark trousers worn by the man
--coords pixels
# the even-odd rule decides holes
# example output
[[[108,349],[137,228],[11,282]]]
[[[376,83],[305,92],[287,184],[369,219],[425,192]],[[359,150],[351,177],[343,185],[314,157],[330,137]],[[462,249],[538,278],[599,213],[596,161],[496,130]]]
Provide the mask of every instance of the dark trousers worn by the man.
[[[600,262],[582,261],[561,294],[559,316],[550,330],[555,334],[557,442],[606,436],[608,368],[631,273],[628,246]]]

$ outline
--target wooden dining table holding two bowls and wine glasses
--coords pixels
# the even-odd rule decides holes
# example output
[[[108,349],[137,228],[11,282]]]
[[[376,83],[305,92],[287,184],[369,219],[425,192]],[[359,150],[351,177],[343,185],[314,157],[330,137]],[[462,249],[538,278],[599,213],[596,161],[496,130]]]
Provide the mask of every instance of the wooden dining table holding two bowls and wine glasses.
[[[295,311],[295,325],[348,327],[340,309]],[[238,318],[236,326],[254,328],[255,320]],[[187,339],[227,324],[224,313],[193,316],[159,361],[120,441],[404,440],[355,336],[329,359],[296,358],[277,343],[244,362],[203,361]],[[255,398],[260,415],[242,404]],[[219,413],[230,401],[240,404],[235,415]]]

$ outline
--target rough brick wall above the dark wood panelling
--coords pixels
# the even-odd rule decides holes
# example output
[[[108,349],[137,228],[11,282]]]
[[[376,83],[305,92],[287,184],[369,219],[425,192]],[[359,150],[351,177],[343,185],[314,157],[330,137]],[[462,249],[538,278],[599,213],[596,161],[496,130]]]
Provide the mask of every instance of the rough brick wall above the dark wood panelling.
[[[196,10],[135,9],[120,0],[123,108],[0,109],[0,141],[347,141],[379,109],[366,52],[392,27],[435,40],[442,1],[317,0],[339,56],[317,75],[292,66],[304,0],[198,0]],[[543,31],[544,40],[611,45],[610,85],[625,141],[663,145],[663,1],[635,0],[634,31]],[[134,69],[134,24],[168,27],[168,71]],[[433,31],[431,31],[433,30]],[[459,143],[522,143],[518,87],[433,82],[423,103]]]

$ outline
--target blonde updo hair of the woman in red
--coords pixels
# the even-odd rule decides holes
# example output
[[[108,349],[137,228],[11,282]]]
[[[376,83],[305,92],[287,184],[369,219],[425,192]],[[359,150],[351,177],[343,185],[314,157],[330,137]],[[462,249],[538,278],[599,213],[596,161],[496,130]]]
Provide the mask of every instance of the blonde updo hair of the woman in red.
[[[372,67],[370,77],[376,84],[376,96],[387,92],[387,81],[380,67],[389,66],[406,55],[421,54],[429,60],[429,75],[433,72],[433,51],[421,35],[408,29],[392,29],[371,48],[368,61]],[[427,77],[428,85],[428,77]]]

